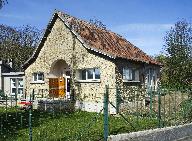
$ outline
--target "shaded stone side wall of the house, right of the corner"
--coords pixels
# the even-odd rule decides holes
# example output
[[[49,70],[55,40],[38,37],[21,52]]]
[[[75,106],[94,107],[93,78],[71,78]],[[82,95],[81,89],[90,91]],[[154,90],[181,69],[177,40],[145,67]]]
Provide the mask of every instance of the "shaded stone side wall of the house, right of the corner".
[[[159,68],[154,65],[141,62],[116,60],[116,83],[119,89],[120,112],[134,112],[136,109],[145,107],[147,97],[147,70],[153,68],[156,71],[156,77],[159,75]],[[139,71],[139,81],[124,81],[123,68],[129,67]],[[156,84],[159,80],[157,79]],[[114,104],[115,101],[114,101]]]

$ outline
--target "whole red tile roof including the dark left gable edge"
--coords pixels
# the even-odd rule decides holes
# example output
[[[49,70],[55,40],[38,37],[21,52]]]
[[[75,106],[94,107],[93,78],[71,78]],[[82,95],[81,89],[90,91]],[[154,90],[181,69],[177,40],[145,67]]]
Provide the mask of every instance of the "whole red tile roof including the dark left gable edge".
[[[93,24],[77,19],[63,12],[56,11],[47,25],[38,47],[35,49],[33,55],[23,64],[23,69],[26,69],[38,57],[38,54],[43,47],[48,34],[51,32],[50,29],[58,17],[60,17],[64,24],[67,25],[68,28],[70,28],[70,30],[79,38],[84,46],[91,50],[102,53],[114,59],[123,58],[145,62],[148,64],[161,65],[159,62],[155,61],[153,58],[148,56],[146,53],[120,35],[109,30],[99,28]]]

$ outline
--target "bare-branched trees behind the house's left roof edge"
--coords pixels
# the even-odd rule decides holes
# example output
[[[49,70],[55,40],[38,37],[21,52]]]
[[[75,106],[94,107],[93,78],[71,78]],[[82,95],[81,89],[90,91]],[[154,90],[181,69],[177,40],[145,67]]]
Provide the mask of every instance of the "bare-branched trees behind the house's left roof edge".
[[[32,55],[40,39],[41,31],[32,26],[13,28],[0,25],[0,60],[11,59],[17,71]]]

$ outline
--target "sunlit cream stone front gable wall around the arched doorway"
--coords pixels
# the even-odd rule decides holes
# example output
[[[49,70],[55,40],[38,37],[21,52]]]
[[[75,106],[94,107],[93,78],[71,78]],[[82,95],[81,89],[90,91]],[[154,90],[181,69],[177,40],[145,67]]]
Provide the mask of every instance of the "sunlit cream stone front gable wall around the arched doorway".
[[[25,70],[27,94],[31,93],[32,89],[35,89],[35,91],[49,89],[50,68],[53,62],[60,59],[64,60],[70,69],[100,68],[100,82],[75,83],[76,94],[84,102],[96,101],[102,103],[105,85],[115,87],[115,64],[107,57],[86,49],[65,24],[57,18],[37,59]],[[34,72],[44,72],[44,83],[32,82]],[[114,92],[111,93],[110,99],[114,99]]]

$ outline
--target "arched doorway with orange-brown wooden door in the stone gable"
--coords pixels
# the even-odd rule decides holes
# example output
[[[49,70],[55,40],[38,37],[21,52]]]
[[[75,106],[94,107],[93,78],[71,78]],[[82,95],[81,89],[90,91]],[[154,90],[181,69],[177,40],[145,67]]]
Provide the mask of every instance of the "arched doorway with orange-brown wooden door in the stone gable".
[[[62,59],[56,60],[51,65],[49,94],[51,97],[70,98],[70,68]]]

